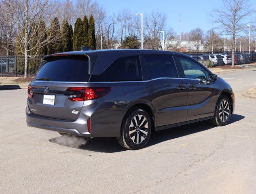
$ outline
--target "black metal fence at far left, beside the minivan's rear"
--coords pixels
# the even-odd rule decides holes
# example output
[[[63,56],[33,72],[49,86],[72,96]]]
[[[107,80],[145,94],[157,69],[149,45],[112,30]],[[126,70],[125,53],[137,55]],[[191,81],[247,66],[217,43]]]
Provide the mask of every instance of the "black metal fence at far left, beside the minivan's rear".
[[[43,56],[28,57],[28,76],[35,76]],[[24,56],[0,56],[0,76],[23,76],[25,67]]]

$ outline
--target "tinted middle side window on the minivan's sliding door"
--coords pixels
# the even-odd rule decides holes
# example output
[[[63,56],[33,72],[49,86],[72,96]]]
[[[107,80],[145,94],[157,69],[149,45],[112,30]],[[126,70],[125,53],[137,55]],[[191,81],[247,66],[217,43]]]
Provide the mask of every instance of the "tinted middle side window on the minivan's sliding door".
[[[146,61],[145,80],[154,78],[178,78],[173,58],[169,55],[144,55]]]

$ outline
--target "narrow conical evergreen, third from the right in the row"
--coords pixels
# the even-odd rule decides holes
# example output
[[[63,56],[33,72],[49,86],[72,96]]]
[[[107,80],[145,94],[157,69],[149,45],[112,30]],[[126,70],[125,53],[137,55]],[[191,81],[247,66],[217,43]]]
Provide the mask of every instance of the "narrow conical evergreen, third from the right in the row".
[[[83,22],[78,18],[75,23],[73,35],[73,51],[80,51],[83,43]]]

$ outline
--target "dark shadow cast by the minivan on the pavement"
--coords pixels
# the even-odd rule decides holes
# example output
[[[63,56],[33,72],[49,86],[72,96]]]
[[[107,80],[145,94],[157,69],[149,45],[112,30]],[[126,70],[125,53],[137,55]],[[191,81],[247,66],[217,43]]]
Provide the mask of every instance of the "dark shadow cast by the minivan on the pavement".
[[[241,119],[245,118],[244,116],[238,115],[238,114],[232,114],[231,119],[229,121],[229,124],[233,122],[237,122]],[[148,141],[148,146],[152,146],[154,144],[167,141],[170,139],[182,137],[185,135],[190,135],[193,133],[198,133],[201,131],[205,131],[208,129],[214,128],[214,125],[212,125],[209,121],[202,121],[202,122],[196,122],[192,124],[187,124],[180,127],[174,127],[171,129],[166,129],[162,131],[154,132]],[[54,139],[57,139],[59,137],[56,137]],[[52,139],[49,139],[51,141]],[[53,142],[53,141],[51,141]],[[115,137],[98,137],[98,138],[92,138],[87,141],[87,143],[83,146],[80,146],[79,149],[82,150],[90,150],[93,152],[106,152],[106,153],[112,153],[112,152],[122,152],[125,151],[118,142],[116,141]]]

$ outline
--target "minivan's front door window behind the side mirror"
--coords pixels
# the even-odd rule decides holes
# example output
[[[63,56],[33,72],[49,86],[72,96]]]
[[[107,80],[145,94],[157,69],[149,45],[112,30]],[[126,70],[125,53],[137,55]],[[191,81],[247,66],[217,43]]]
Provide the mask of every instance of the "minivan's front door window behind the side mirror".
[[[178,57],[178,59],[180,60],[186,78],[199,80],[208,79],[209,74],[201,65],[184,57]]]

